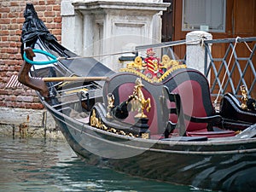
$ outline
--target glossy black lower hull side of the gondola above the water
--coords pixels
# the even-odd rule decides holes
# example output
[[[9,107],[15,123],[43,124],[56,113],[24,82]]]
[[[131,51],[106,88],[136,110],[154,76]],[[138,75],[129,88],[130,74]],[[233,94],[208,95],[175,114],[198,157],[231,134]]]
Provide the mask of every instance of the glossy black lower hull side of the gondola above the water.
[[[91,165],[201,189],[253,191],[256,187],[256,138],[247,142],[131,139],[106,134],[44,104],[71,148]]]

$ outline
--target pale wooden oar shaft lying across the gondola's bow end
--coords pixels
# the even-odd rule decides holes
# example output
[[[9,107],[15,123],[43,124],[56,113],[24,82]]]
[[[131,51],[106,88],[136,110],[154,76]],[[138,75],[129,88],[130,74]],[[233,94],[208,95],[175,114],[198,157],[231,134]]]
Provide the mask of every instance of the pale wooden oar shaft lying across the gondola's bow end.
[[[43,78],[44,82],[58,82],[58,81],[107,81],[108,77],[56,77]]]

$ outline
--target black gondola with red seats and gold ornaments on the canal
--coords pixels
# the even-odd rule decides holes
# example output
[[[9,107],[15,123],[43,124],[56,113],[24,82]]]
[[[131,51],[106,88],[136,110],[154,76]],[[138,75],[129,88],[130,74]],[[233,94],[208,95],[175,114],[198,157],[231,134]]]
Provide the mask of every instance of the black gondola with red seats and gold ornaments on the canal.
[[[217,112],[207,78],[168,57],[166,67],[154,45],[113,72],[58,44],[32,4],[24,15],[19,81],[86,163],[200,189],[256,189],[255,101],[247,108],[246,93],[227,93]]]

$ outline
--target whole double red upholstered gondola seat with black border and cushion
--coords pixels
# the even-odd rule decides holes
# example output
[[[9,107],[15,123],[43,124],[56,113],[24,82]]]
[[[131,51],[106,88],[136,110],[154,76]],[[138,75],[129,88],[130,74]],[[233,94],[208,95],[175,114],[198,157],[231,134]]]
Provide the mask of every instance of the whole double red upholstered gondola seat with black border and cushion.
[[[132,95],[137,78],[138,76],[133,73],[118,73],[113,75],[104,84],[103,102],[108,103],[108,93],[112,93],[114,96],[114,106],[125,102]],[[194,69],[185,68],[174,71],[160,83],[150,83],[144,79],[142,81],[144,84],[142,89],[143,95],[145,98],[150,98],[151,102],[151,110],[149,112],[145,110],[144,113],[148,116],[149,130],[152,135],[164,133],[167,135],[166,130],[173,131],[172,128],[176,127],[177,115],[170,113],[169,109],[176,108],[177,105],[180,105],[181,112],[178,112],[178,115],[183,115],[183,125],[181,122],[178,122],[178,125],[184,130],[185,135],[191,136],[192,133],[190,132],[195,131],[195,134],[198,134],[198,131],[201,131],[201,135],[213,137],[214,134],[211,131],[212,125],[219,122],[221,117],[215,114],[212,107],[209,85],[204,75]],[[169,100],[166,103],[161,102],[160,96],[163,87],[166,87],[166,92],[169,95],[176,94],[176,96],[180,96],[180,101],[173,102]],[[130,111],[129,116],[122,120],[125,123],[134,125],[135,114],[136,112]],[[179,134],[183,136],[182,132]],[[218,132],[216,133],[216,137],[227,137],[230,134],[230,131],[224,131],[221,134]]]

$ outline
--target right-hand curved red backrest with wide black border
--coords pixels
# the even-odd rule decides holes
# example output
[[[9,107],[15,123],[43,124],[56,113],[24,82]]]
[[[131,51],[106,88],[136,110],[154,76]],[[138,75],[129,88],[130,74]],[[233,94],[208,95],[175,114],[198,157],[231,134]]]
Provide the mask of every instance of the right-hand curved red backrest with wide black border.
[[[165,82],[171,93],[177,93],[183,103],[183,113],[194,117],[207,117],[215,113],[206,77],[194,69],[179,70]],[[177,118],[170,115],[172,122]],[[187,131],[207,130],[206,123],[185,120]]]

